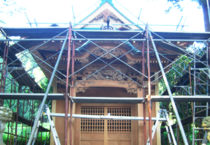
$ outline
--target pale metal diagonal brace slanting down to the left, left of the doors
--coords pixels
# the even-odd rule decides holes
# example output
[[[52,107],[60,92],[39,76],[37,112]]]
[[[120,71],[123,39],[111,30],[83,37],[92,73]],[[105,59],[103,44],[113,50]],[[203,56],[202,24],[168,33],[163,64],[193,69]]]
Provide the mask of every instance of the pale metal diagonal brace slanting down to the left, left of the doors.
[[[39,124],[39,119],[40,119],[40,117],[41,117],[41,115],[42,115],[42,112],[43,112],[43,109],[44,109],[44,105],[45,105],[45,102],[46,102],[46,100],[47,100],[48,93],[49,93],[49,91],[50,91],[50,87],[51,87],[51,85],[52,85],[52,82],[53,82],[55,73],[56,73],[56,71],[57,71],[57,68],[58,68],[58,65],[59,65],[61,56],[62,56],[63,51],[64,51],[64,49],[65,49],[65,45],[66,45],[66,42],[67,42],[67,40],[68,40],[68,35],[69,35],[69,34],[67,33],[67,34],[66,34],[66,38],[65,38],[65,40],[64,40],[64,42],[63,42],[63,45],[62,45],[62,47],[61,47],[61,50],[60,50],[58,59],[57,59],[56,64],[55,64],[55,66],[54,66],[52,75],[51,75],[51,77],[50,77],[50,81],[49,81],[49,83],[48,83],[47,90],[46,90],[46,92],[45,92],[44,98],[43,98],[43,100],[42,100],[42,103],[41,103],[40,106],[39,106],[39,110],[38,110],[38,112],[37,112],[37,115],[36,115],[36,118],[35,118],[35,121],[34,121],[34,124],[33,124],[33,128],[32,128],[32,131],[31,131],[31,135],[30,135],[30,137],[29,137],[29,140],[28,140],[27,145],[31,145],[31,144],[34,143],[35,140],[36,140],[36,136],[37,136],[38,128],[39,128],[39,125],[38,125],[38,124]]]

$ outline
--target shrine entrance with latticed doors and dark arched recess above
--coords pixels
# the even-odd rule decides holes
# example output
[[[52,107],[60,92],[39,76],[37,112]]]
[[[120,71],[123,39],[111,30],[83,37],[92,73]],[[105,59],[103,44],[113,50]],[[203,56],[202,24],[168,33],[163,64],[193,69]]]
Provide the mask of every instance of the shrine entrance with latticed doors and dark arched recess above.
[[[134,97],[123,88],[88,88],[77,96]],[[85,115],[135,116],[132,104],[77,104],[77,113]],[[77,119],[80,145],[133,145],[136,122],[131,120]]]

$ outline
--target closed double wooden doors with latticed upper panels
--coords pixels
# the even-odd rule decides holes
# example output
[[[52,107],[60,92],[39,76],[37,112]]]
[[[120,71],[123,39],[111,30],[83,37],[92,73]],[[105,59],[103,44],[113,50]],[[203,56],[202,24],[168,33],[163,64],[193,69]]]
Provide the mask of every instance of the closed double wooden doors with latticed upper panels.
[[[81,114],[131,116],[130,106],[81,106]],[[81,145],[131,145],[130,120],[81,119]]]

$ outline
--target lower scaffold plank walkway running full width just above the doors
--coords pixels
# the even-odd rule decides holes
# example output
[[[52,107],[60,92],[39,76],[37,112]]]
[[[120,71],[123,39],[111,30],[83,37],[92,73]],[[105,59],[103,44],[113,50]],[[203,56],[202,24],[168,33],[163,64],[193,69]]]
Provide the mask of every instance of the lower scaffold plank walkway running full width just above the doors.
[[[42,100],[44,93],[0,93],[0,99],[31,99],[31,100]],[[48,94],[48,100],[64,100],[65,95],[61,93]],[[75,97],[71,96],[75,103],[126,103],[126,104],[138,104],[143,103],[144,98],[136,97]],[[181,102],[207,102],[210,101],[210,96],[197,95],[197,96],[173,96],[175,101]],[[169,102],[170,97],[165,96],[151,96],[152,102]]]

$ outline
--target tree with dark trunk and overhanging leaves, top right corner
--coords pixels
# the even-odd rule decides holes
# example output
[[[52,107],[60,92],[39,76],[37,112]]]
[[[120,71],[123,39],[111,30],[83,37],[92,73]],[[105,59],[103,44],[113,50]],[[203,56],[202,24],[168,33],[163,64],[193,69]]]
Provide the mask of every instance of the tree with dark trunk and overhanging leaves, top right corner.
[[[172,2],[173,6],[179,8],[180,10],[183,9],[183,7],[180,5],[180,2],[184,0],[168,0],[168,1]],[[208,15],[208,6],[210,6],[210,0],[192,0],[192,1],[197,1],[202,7],[205,31],[210,32],[210,20],[209,20],[209,15]],[[207,1],[208,1],[208,5],[207,5]]]

